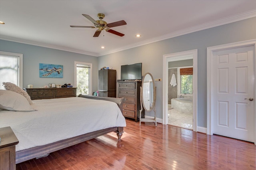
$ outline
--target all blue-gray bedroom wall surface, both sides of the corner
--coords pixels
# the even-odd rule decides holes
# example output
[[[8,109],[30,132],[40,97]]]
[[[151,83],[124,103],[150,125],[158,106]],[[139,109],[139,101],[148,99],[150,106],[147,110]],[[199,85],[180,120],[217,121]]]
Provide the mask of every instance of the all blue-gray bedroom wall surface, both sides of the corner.
[[[124,51],[92,57],[34,45],[0,40],[0,50],[23,53],[23,87],[33,84],[34,87],[48,83],[74,83],[74,61],[92,63],[92,88],[98,88],[98,69],[106,66],[117,71],[120,79],[121,65],[142,63],[142,74],[149,72],[154,79],[163,77],[163,55],[198,49],[198,126],[206,127],[206,50],[207,47],[226,43],[256,39],[256,17],[215,28],[150,43]],[[39,63],[59,64],[64,67],[64,77],[60,79],[39,78]],[[162,119],[162,81],[156,81],[156,111]],[[153,116],[150,112],[148,115]]]

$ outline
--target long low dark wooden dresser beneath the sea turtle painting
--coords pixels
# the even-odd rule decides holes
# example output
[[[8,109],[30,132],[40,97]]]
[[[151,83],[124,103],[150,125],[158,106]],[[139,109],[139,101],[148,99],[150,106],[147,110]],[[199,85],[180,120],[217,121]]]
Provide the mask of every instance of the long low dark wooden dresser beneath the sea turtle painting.
[[[31,100],[76,97],[75,87],[27,88],[26,90]]]

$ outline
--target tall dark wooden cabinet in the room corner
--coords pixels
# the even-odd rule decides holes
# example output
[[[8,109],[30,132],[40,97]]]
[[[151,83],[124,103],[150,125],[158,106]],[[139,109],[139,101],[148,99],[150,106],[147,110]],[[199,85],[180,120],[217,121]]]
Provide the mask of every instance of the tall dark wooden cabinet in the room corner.
[[[98,91],[102,97],[116,97],[116,70],[99,70]]]

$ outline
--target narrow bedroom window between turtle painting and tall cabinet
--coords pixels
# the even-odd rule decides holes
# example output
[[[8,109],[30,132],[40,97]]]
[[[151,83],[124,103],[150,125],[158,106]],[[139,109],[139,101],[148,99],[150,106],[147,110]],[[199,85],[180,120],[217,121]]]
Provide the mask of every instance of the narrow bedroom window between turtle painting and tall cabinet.
[[[92,63],[75,61],[75,87],[76,94],[92,94]]]

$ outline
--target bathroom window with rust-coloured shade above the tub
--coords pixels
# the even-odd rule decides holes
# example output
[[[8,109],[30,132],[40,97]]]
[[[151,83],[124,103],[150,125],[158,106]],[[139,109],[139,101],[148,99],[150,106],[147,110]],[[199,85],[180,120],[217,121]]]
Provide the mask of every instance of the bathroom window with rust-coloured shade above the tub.
[[[178,95],[193,94],[193,67],[178,67]]]

